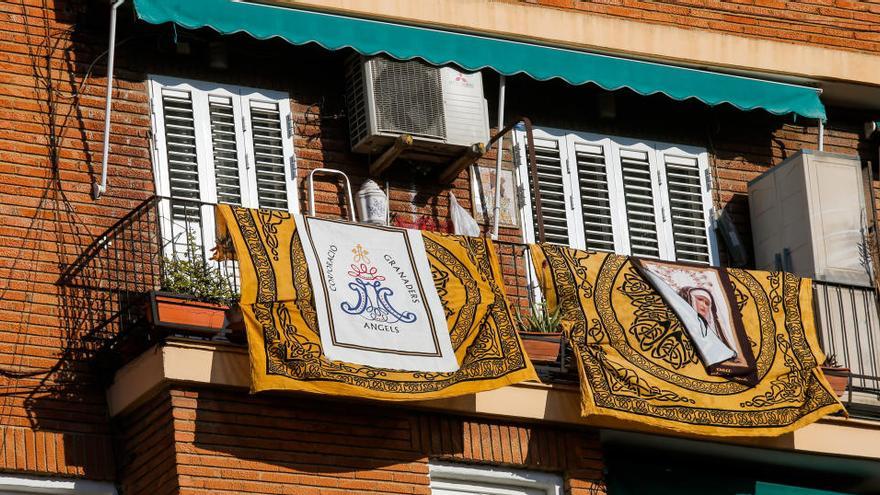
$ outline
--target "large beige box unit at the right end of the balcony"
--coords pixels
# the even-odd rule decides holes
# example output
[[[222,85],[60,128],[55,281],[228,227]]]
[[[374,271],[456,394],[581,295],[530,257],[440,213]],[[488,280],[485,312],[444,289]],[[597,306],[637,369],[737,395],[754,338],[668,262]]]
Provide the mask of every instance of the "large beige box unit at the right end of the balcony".
[[[803,150],[749,182],[755,264],[871,286],[859,157]]]

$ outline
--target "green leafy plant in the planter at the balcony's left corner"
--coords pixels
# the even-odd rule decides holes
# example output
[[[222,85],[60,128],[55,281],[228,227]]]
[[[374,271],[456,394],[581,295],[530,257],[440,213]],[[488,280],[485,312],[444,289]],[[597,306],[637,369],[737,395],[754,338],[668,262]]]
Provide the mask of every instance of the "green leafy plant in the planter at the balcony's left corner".
[[[186,252],[166,256],[162,263],[162,290],[165,292],[222,305],[231,305],[238,300],[238,293],[229,279],[205,259],[192,232],[187,232]]]

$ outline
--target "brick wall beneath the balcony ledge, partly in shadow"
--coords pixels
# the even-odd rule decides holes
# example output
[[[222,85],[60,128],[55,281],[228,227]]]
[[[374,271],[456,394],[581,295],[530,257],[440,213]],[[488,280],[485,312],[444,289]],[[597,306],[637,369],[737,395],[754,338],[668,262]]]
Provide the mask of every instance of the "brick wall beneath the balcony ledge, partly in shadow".
[[[161,423],[157,447],[120,466],[128,493],[423,494],[428,462],[502,465],[564,476],[566,493],[602,492],[602,457],[593,430],[563,429],[432,413],[304,395],[173,388],[125,418],[125,435],[144,419]],[[160,405],[161,404],[161,405]],[[146,414],[148,409],[155,413]],[[164,411],[164,412],[159,412]],[[173,450],[166,446],[173,417]],[[164,450],[163,450],[164,449]],[[142,466],[174,456],[176,481]],[[170,473],[163,470],[162,473]],[[135,489],[136,488],[136,489]]]

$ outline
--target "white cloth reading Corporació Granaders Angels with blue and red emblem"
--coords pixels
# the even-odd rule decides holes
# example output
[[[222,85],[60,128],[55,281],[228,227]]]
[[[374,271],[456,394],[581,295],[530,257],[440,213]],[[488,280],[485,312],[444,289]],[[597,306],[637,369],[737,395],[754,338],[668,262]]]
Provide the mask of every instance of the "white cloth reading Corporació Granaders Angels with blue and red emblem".
[[[328,359],[458,370],[421,232],[303,216],[296,222]]]

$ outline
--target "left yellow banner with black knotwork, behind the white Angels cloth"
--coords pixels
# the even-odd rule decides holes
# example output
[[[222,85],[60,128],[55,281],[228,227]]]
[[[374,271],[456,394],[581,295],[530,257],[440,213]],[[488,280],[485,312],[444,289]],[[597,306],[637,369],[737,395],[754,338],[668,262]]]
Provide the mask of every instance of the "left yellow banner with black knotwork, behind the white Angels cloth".
[[[217,207],[218,257],[234,253],[247,328],[251,389],[424,400],[537,380],[508,307],[494,245],[422,232],[459,369],[401,371],[331,361],[296,222],[286,212]]]

